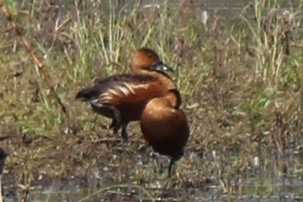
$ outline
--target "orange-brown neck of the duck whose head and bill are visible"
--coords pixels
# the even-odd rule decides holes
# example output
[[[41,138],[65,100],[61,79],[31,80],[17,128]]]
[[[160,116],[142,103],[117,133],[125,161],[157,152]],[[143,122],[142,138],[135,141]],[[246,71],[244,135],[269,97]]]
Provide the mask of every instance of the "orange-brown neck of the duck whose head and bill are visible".
[[[161,82],[161,84],[163,84],[163,86],[165,86],[167,88],[167,90],[176,88],[175,82],[172,80],[172,78],[168,74],[165,74],[164,72],[137,70],[137,71],[134,71],[134,74],[151,76],[153,78],[157,78]]]

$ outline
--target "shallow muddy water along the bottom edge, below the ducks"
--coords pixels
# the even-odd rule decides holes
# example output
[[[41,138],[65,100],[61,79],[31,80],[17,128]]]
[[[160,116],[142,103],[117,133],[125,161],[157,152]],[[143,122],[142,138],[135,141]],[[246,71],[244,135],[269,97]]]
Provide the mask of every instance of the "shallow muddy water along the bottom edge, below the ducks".
[[[143,157],[143,159],[140,160],[140,157]],[[146,167],[142,165],[142,162],[146,161],[144,157],[134,154],[134,162],[131,162],[133,166],[130,165],[125,173],[133,175],[131,173],[132,170],[146,170],[155,167],[155,164],[151,162],[146,162]],[[189,154],[187,153],[184,158],[189,158]],[[156,201],[303,201],[303,179],[296,174],[298,171],[293,169],[283,171],[283,169],[278,168],[281,164],[288,164],[293,167],[292,164],[296,160],[296,157],[273,160],[265,166],[266,168],[263,168],[263,166],[259,166],[258,168],[252,167],[251,171],[248,171],[246,174],[242,173],[230,177],[229,186],[225,188],[221,181],[215,178],[202,184],[191,184],[185,180],[182,182],[183,185],[181,188],[158,188],[162,184],[169,182],[166,175],[158,171],[154,171],[156,177],[150,178],[150,181],[141,182],[139,185],[142,188],[145,187],[146,191]],[[211,160],[205,159],[204,161]],[[110,164],[110,162],[107,163]],[[113,167],[118,166],[119,164],[116,164]],[[135,169],[132,169],[133,167]],[[101,173],[104,171],[111,172],[109,175],[115,175],[111,167],[99,167],[88,172],[86,178],[48,179],[47,177],[41,177],[41,179],[35,180],[32,183],[33,187],[29,193],[28,201],[78,201],[88,194],[107,186],[112,186],[113,184],[119,185],[119,183],[113,183],[110,178]],[[131,179],[132,177],[128,176],[128,178]],[[8,182],[4,184],[10,184],[8,176],[5,177],[4,181]],[[135,181],[130,181],[129,183],[133,183],[132,185],[136,184]],[[108,189],[87,201],[151,201],[138,188],[128,187],[127,182],[121,184],[126,187]],[[12,187],[4,186],[6,202],[16,201],[20,197],[17,194],[18,191],[12,190]]]

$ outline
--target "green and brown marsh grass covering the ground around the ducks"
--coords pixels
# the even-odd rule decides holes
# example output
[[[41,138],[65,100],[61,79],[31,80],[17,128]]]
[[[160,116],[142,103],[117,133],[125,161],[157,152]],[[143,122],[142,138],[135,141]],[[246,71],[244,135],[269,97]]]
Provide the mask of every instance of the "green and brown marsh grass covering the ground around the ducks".
[[[258,170],[303,176],[298,157],[303,144],[302,1],[296,6],[255,1],[235,22],[220,11],[209,12],[205,25],[200,10],[187,1],[160,3],[5,1],[48,67],[78,131],[73,134],[41,72],[1,18],[0,131],[12,136],[2,147],[23,196],[28,197],[24,193],[37,175],[88,180],[94,170],[103,183],[92,192],[132,183],[151,189],[153,197],[208,181],[232,193],[231,184]],[[74,100],[94,79],[129,72],[129,58],[142,46],[175,69],[191,125],[186,155],[171,180],[154,171],[138,124],[131,125],[130,143],[123,145],[106,128],[107,119],[99,117],[94,124],[90,107]],[[167,164],[165,157],[161,160]]]

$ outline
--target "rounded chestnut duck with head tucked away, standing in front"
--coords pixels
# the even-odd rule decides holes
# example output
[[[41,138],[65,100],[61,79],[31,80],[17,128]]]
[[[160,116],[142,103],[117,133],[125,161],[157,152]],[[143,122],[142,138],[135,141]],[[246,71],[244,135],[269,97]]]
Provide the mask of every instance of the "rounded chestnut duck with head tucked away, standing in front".
[[[171,167],[183,155],[189,137],[189,126],[184,112],[179,109],[181,96],[176,89],[169,90],[164,96],[150,100],[142,112],[140,126],[148,145],[159,154],[171,157]]]

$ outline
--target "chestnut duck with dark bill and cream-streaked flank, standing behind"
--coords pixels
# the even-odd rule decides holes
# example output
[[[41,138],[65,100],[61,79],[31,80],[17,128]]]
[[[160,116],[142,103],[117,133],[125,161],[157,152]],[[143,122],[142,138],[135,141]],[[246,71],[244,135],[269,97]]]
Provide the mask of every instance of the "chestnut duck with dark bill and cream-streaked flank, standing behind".
[[[140,119],[145,104],[175,88],[175,83],[165,73],[173,70],[151,49],[138,49],[132,56],[131,68],[132,74],[110,76],[76,95],[76,99],[90,101],[98,114],[112,118],[110,127],[115,133],[122,127],[125,141],[128,123]]]

